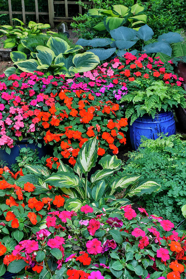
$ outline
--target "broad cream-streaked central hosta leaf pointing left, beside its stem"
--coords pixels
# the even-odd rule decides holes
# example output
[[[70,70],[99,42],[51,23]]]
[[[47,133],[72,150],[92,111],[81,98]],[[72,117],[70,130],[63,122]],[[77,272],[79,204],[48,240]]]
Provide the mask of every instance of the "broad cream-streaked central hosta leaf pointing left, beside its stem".
[[[54,187],[71,188],[79,185],[79,177],[71,172],[59,171],[48,176],[45,182]]]

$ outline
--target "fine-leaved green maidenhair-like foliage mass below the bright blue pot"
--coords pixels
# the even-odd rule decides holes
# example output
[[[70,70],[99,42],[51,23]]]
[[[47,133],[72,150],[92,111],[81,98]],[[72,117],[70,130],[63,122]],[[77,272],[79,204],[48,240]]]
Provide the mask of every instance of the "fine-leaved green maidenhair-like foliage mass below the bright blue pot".
[[[182,221],[181,207],[186,204],[186,141],[179,135],[147,139],[138,151],[129,153],[129,160],[122,172],[138,173],[144,178],[156,179],[162,187],[156,193],[144,195],[138,203],[175,223]]]

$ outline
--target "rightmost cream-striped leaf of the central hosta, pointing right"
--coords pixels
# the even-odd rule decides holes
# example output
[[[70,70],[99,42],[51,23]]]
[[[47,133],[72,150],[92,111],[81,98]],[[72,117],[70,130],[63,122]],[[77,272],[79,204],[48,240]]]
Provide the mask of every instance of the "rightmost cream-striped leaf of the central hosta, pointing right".
[[[140,196],[143,194],[151,194],[160,189],[161,185],[154,180],[139,179],[138,183],[134,186],[127,188],[126,193],[129,197],[134,195]]]

